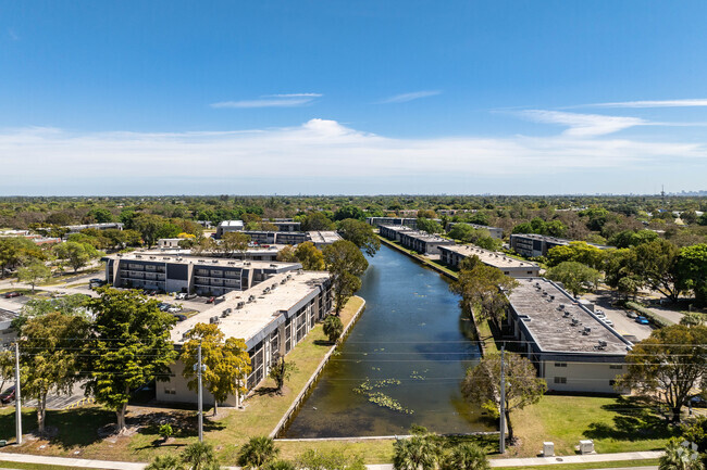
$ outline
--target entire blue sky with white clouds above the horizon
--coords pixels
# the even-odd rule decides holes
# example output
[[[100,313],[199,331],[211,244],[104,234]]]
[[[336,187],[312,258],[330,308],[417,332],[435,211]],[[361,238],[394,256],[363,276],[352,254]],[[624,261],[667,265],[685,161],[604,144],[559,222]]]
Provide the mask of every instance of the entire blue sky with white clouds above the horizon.
[[[707,189],[704,1],[2,1],[0,195]]]

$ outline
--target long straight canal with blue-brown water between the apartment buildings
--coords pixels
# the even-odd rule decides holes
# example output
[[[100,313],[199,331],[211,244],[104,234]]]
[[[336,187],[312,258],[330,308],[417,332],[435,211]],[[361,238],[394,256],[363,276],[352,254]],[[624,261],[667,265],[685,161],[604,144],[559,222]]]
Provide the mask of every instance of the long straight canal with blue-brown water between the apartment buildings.
[[[283,436],[494,431],[459,392],[481,353],[448,282],[385,245],[369,263],[365,312]]]

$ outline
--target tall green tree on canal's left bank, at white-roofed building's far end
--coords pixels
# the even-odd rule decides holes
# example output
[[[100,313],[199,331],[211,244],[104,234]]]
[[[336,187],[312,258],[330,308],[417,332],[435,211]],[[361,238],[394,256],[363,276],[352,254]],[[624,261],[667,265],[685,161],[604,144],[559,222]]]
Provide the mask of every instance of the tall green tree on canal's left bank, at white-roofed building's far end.
[[[365,272],[369,262],[361,251],[348,240],[338,240],[323,250],[326,270],[332,277],[336,315],[351,295],[361,289],[359,276]]]

